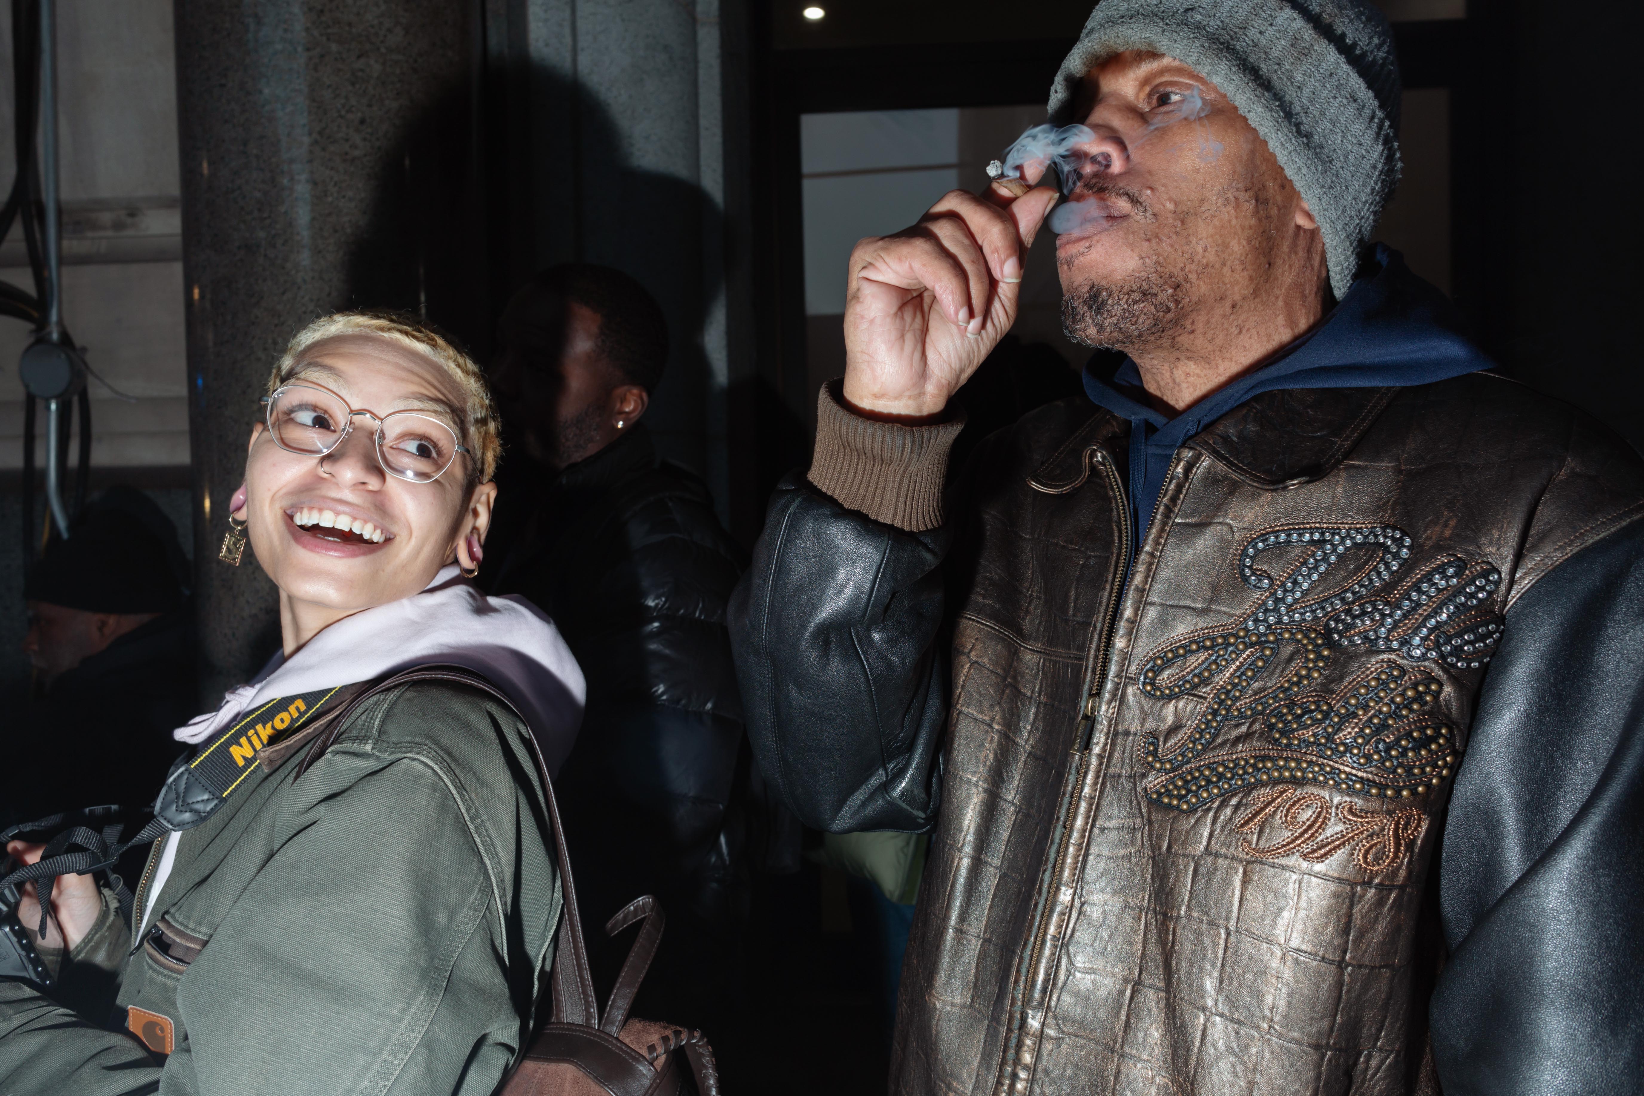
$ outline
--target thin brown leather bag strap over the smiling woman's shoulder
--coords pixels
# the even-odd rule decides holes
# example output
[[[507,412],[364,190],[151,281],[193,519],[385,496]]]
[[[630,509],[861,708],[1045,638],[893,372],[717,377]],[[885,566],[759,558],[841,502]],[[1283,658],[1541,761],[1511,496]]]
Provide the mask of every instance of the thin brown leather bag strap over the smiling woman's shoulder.
[[[577,887],[570,879],[570,851],[566,848],[566,831],[559,825],[559,805],[554,800],[554,782],[547,776],[547,762],[543,761],[543,749],[536,744],[536,735],[531,733],[529,720],[520,715],[520,708],[515,707],[513,700],[510,700],[505,692],[462,665],[418,665],[385,677],[350,697],[349,703],[337,711],[330,726],[326,728],[324,735],[314,739],[314,744],[309,746],[307,754],[298,764],[298,777],[307,772],[314,762],[319,761],[327,749],[330,749],[332,743],[335,743],[342,735],[344,723],[349,721],[360,705],[378,693],[398,688],[399,685],[409,685],[413,682],[450,682],[477,688],[478,692],[495,697],[510,711],[520,716],[521,723],[526,725],[524,741],[531,748],[531,758],[536,761],[536,774],[543,781],[547,822],[554,831],[554,856],[559,861],[559,886],[562,896],[559,938],[554,942],[554,969],[549,976],[549,986],[554,997],[551,1019],[556,1024],[582,1024],[585,1027],[598,1027],[600,1015],[598,1002],[593,997],[593,974],[589,971],[589,950],[582,935],[582,917],[577,914]],[[646,960],[646,963],[649,963],[649,960]],[[623,968],[623,973],[626,973],[626,968]],[[649,1083],[649,1078],[646,1078],[646,1081]],[[643,1093],[644,1089],[640,1091]]]

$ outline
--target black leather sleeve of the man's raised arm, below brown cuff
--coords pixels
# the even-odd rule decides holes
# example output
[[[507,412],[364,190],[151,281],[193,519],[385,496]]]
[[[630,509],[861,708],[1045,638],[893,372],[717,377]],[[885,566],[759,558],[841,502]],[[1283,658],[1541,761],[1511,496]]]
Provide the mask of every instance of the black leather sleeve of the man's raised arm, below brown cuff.
[[[945,529],[880,524],[797,473],[771,498],[732,596],[732,651],[755,761],[807,825],[931,827],[947,547]]]

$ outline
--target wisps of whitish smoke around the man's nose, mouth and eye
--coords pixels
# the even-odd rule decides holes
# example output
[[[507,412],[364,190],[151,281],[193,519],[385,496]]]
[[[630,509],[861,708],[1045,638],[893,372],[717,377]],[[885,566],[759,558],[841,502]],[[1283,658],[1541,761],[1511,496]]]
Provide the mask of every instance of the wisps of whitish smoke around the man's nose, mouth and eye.
[[[1200,122],[1210,108],[1205,105],[1203,92],[1195,85],[1180,100],[1154,112],[1154,118],[1143,127],[1141,133],[1124,141],[1124,154],[1129,159],[1143,150],[1152,138],[1179,122]],[[1221,154],[1221,143],[1210,138],[1205,125],[1198,127],[1198,158],[1205,163]],[[1080,232],[1085,228],[1105,228],[1126,215],[1124,207],[1101,197],[1103,191],[1118,192],[1116,187],[1101,187],[1101,176],[1113,171],[1113,154],[1106,150],[1088,150],[1097,135],[1083,125],[1036,125],[1009,146],[1004,153],[1004,179],[1024,179],[1023,168],[1037,164],[1041,171],[1055,171],[1057,189],[1064,200],[1057,205],[1046,225],[1057,235]],[[1080,189],[1090,191],[1088,197],[1077,197]]]

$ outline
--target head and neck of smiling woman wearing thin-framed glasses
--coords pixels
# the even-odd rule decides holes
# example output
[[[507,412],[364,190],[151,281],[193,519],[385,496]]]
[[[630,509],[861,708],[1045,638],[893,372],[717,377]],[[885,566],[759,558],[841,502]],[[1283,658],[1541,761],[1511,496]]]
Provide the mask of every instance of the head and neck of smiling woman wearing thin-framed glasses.
[[[500,442],[467,355],[401,319],[344,312],[291,340],[263,406],[232,514],[279,588],[288,656],[446,564],[478,567]]]

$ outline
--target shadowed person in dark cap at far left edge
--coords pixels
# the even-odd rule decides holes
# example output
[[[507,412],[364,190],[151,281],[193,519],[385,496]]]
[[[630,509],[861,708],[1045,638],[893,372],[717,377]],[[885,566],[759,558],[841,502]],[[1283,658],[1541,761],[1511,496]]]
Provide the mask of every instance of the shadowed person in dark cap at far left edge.
[[[153,802],[196,711],[187,560],[146,495],[115,486],[53,541],[25,580],[35,697],[8,721],[21,781],[0,822]]]

